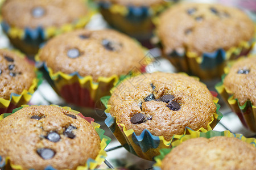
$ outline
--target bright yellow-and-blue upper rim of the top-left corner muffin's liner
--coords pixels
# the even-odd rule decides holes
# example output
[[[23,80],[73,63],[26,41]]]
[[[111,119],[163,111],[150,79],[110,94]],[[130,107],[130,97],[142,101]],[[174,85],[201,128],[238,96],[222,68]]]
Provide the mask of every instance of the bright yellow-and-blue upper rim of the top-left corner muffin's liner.
[[[4,1],[5,0],[1,0],[0,5]],[[84,0],[84,2],[89,4],[88,0]],[[82,16],[81,18],[77,19],[76,22],[67,23],[62,25],[61,27],[47,27],[47,28],[38,27],[35,29],[30,29],[30,28],[21,29],[17,27],[12,27],[8,23],[6,23],[5,20],[3,20],[2,16],[0,16],[0,22],[2,24],[3,30],[7,33],[9,37],[13,39],[18,38],[20,40],[26,41],[26,37],[30,37],[30,39],[31,38],[38,39],[40,37],[43,40],[47,40],[50,37],[59,35],[60,33],[68,32],[68,31],[72,31],[73,29],[84,27],[94,14],[96,14],[96,10],[88,8],[88,14],[86,16]],[[31,35],[36,35],[36,36],[31,36]]]

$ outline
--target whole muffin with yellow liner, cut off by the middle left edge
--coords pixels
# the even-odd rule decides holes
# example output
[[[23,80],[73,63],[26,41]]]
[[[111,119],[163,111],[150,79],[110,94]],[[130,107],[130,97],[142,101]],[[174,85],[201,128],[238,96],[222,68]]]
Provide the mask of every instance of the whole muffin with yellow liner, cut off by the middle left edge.
[[[21,53],[0,49],[0,114],[30,101],[41,80],[35,71]]]

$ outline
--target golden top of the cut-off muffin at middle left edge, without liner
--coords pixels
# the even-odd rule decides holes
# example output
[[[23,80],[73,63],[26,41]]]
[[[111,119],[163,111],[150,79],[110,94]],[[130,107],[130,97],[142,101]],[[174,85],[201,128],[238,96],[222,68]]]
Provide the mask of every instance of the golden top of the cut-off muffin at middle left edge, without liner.
[[[6,49],[0,49],[0,97],[9,100],[11,93],[28,90],[36,77],[34,66],[25,58]]]

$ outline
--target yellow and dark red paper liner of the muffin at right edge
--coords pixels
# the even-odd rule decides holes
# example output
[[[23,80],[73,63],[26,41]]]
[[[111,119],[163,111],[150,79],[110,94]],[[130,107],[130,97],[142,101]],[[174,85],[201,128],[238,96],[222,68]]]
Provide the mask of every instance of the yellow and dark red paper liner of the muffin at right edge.
[[[222,99],[229,105],[234,113],[240,118],[245,128],[256,132],[256,106],[254,106],[250,100],[247,100],[245,104],[240,105],[238,99],[234,98],[233,92],[226,90],[224,86],[224,78],[228,74],[228,66],[224,69],[225,74],[222,75],[222,81],[217,83],[215,88]]]

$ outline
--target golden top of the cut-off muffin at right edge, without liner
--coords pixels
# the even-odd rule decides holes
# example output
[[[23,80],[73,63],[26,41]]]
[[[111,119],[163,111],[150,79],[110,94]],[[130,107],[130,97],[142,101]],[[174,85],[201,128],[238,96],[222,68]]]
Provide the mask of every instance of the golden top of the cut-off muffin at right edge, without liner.
[[[256,56],[238,60],[225,76],[226,90],[234,93],[240,105],[247,100],[256,105]]]

